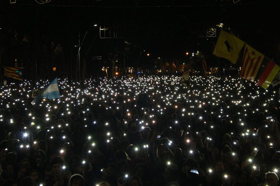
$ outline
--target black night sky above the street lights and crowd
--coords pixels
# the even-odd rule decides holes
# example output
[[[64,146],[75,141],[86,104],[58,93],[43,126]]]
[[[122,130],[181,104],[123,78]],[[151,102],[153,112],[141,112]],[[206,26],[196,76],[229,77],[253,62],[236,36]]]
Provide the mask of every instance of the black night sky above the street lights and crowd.
[[[35,0],[18,0],[15,4],[1,1],[1,47],[12,47],[3,52],[2,61],[12,60],[23,50],[34,53],[36,46],[49,43],[62,46],[64,58],[71,61],[71,56],[76,56],[78,35],[81,41],[86,33],[83,47],[94,40],[92,56],[108,55],[126,42],[135,56],[145,50],[166,61],[182,61],[185,52],[199,50],[207,59],[215,60],[212,51],[217,37],[205,37],[205,31],[219,23],[264,55],[275,58],[280,33],[277,6],[268,1],[234,2],[52,0],[39,5]],[[99,26],[111,33],[100,39]],[[11,40],[3,39],[13,32],[21,39],[27,36],[30,48],[14,47]]]

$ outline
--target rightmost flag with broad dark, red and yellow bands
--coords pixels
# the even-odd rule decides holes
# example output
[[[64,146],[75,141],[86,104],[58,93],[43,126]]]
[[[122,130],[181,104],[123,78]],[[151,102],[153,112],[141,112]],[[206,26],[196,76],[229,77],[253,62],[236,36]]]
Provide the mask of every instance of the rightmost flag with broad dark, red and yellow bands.
[[[258,81],[257,85],[267,89],[276,77],[279,70],[280,66],[265,57],[256,76],[256,81]]]

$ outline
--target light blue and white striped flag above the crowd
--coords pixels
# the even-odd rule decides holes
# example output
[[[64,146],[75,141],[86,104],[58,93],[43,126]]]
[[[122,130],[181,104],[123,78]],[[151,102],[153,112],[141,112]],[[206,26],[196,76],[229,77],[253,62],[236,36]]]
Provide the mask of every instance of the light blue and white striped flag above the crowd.
[[[60,93],[59,93],[59,86],[58,86],[58,79],[55,78],[48,86],[46,86],[41,93],[36,96],[31,103],[38,104],[41,100],[41,98],[46,98],[46,99],[55,99],[55,98],[60,98]]]

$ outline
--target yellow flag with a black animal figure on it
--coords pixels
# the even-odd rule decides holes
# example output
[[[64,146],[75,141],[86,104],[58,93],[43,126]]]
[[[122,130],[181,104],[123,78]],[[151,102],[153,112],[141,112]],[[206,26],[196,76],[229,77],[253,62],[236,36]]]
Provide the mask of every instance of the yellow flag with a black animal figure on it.
[[[226,58],[235,64],[244,44],[245,42],[235,35],[221,30],[213,54],[218,57]]]

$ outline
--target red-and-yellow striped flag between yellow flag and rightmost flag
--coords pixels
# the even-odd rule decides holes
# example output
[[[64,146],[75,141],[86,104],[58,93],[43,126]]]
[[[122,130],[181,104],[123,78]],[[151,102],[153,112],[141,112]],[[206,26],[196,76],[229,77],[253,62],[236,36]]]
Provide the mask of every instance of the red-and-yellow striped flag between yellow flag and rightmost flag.
[[[264,57],[262,53],[245,44],[240,78],[254,82]]]

